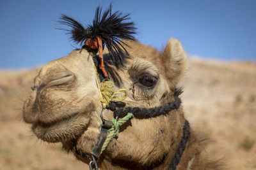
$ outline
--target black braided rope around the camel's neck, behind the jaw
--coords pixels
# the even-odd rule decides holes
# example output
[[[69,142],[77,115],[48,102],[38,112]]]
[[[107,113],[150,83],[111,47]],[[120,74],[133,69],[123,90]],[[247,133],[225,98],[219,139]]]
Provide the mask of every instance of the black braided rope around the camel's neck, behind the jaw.
[[[180,141],[180,145],[178,147],[178,149],[175,152],[175,155],[172,159],[172,163],[170,164],[168,170],[175,170],[176,166],[179,164],[180,162],[180,158],[182,157],[182,153],[184,152],[185,148],[186,148],[186,144],[188,142],[189,139],[189,122],[188,120],[185,120],[184,123],[184,127],[183,127],[183,136],[182,139]]]

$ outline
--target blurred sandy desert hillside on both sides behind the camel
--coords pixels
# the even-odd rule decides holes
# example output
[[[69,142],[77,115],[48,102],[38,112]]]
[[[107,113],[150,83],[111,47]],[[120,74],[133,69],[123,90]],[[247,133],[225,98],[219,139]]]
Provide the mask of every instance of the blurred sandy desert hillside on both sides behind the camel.
[[[22,104],[40,67],[0,71],[0,169],[88,169],[60,143],[36,139]],[[256,63],[191,57],[180,82],[186,117],[207,138],[205,154],[228,169],[256,169]]]

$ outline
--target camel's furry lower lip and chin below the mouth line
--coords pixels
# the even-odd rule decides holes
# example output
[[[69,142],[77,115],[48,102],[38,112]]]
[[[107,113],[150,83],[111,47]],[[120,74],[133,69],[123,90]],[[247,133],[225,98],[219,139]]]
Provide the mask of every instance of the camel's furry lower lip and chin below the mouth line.
[[[51,123],[36,122],[31,129],[37,138],[49,143],[67,142],[81,136],[89,124],[83,114],[73,114],[72,117],[61,118]]]

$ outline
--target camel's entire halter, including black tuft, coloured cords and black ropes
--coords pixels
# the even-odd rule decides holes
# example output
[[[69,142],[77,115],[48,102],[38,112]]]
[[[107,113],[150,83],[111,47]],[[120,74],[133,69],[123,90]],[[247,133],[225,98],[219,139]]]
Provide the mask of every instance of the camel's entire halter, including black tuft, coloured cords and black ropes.
[[[59,22],[60,24],[71,27],[70,30],[63,30],[68,31],[68,33],[72,35],[72,39],[76,43],[83,45],[82,48],[85,48],[93,57],[95,80],[100,94],[100,102],[102,103],[102,109],[100,111],[102,125],[100,126],[97,144],[92,148],[92,156],[89,164],[90,169],[98,169],[97,160],[99,160],[100,154],[108,146],[111,139],[118,135],[120,125],[124,124],[132,117],[151,118],[166,115],[172,110],[179,109],[181,103],[178,97],[179,95],[177,95],[174,96],[172,102],[156,108],[127,107],[116,109],[116,103],[125,99],[127,90],[120,89],[113,92],[114,83],[109,79],[109,74],[104,67],[103,49],[104,45],[106,45],[109,51],[109,57],[117,68],[125,66],[125,61],[129,53],[124,48],[126,44],[123,40],[136,41],[136,38],[133,36],[133,34],[136,33],[134,23],[125,22],[129,19],[128,16],[129,15],[122,15],[122,13],[118,11],[111,13],[111,6],[109,6],[109,9],[104,11],[104,13],[102,13],[102,8],[98,7],[93,24],[88,25],[87,28],[84,28],[79,22],[66,15],[62,15],[61,21]],[[99,53],[99,55],[97,55],[97,53]],[[99,78],[97,76],[98,74]],[[116,94],[120,93],[123,93],[124,96],[116,97]],[[111,121],[105,120],[102,115],[104,109],[113,111],[113,117],[115,117],[115,119],[112,118]],[[118,118],[121,119],[118,120]],[[182,139],[169,169],[173,170],[176,168],[177,164],[179,164],[182,153],[186,148],[189,134],[189,123],[185,120]],[[79,155],[77,150],[76,153]],[[84,155],[80,156],[85,157]]]

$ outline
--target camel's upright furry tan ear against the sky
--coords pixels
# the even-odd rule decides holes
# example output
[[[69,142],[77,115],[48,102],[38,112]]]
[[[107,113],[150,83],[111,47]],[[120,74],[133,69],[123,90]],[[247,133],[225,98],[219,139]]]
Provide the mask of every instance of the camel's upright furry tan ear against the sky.
[[[186,53],[177,39],[169,39],[163,53],[163,65],[168,80],[175,87],[188,66]]]

